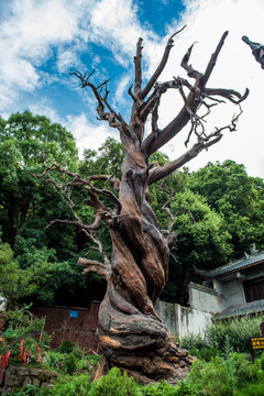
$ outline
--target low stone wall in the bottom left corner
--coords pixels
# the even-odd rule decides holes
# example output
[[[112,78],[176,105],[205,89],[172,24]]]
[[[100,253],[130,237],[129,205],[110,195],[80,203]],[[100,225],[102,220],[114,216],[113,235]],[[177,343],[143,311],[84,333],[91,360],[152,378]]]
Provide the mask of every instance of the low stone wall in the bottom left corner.
[[[0,394],[11,393],[13,388],[19,389],[26,384],[53,387],[57,375],[47,370],[10,365],[6,370]]]

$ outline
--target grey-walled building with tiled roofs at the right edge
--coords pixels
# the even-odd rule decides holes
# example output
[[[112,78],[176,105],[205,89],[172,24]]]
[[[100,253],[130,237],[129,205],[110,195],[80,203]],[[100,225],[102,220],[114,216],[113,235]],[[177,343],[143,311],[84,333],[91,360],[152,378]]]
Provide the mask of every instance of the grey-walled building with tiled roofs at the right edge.
[[[202,285],[189,284],[191,308],[221,319],[264,312],[264,251],[197,274]]]

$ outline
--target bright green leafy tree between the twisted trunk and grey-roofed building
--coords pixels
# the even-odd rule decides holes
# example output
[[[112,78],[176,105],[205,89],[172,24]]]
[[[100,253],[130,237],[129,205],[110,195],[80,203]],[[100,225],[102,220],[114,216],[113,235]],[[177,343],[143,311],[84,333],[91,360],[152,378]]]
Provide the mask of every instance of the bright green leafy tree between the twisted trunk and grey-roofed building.
[[[210,209],[204,197],[185,189],[175,195],[170,210],[176,213],[173,230],[177,241],[163,298],[187,305],[187,285],[196,278],[195,266],[204,270],[219,266],[227,261],[232,248],[223,219]]]

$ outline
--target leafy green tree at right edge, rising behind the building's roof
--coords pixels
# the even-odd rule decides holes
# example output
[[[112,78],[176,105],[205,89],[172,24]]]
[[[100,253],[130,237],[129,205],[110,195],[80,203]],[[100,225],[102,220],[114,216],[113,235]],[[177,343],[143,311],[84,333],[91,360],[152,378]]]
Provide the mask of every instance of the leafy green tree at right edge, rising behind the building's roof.
[[[246,174],[233,161],[209,163],[194,173],[189,188],[206,197],[207,202],[224,219],[231,235],[232,258],[250,251],[252,243],[264,248],[264,182]]]

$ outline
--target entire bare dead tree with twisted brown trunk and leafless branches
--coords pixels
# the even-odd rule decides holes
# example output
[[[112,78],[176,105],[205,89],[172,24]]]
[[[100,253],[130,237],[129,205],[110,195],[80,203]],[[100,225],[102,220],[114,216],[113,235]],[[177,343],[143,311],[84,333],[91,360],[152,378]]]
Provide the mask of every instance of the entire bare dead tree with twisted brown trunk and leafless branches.
[[[139,38],[134,57],[134,85],[133,89],[132,87],[129,89],[132,99],[129,122],[111,107],[107,81],[96,86],[91,82],[92,73],[90,75],[72,73],[81,81],[82,88],[91,89],[97,100],[99,119],[119,130],[125,152],[121,180],[107,175],[81,178],[78,174],[62,169],[57,164],[51,165],[43,173],[44,175],[56,169],[67,174],[70,180],[64,186],[56,185],[56,187],[85,186],[88,198],[84,204],[96,209],[95,221],[89,226],[84,224],[74,210],[73,221],[58,219],[54,221],[82,229],[102,256],[101,262],[79,258],[79,265],[85,266],[86,273],[96,272],[108,282],[99,312],[98,339],[102,358],[95,374],[96,378],[112,366],[128,371],[143,383],[160,378],[183,378],[193,362],[188,352],[174,342],[154,309],[154,302],[166,284],[169,244],[174,242],[176,235],[170,232],[170,222],[168,230],[158,230],[151,207],[148,186],[186,164],[202,150],[219,142],[224,130],[235,129],[239,116],[235,116],[229,125],[210,133],[205,129],[205,117],[211,111],[211,107],[223,102],[223,99],[240,103],[249,94],[246,90],[242,96],[233,89],[207,87],[227,35],[228,32],[222,35],[205,73],[196,70],[189,64],[191,45],[182,61],[182,67],[190,80],[174,77],[169,81],[157,82],[173,47],[174,35],[170,36],[161,63],[144,87],[142,86],[142,38]],[[162,96],[169,89],[179,92],[183,107],[165,128],[160,129],[158,107]],[[206,114],[198,116],[200,108],[205,108]],[[145,136],[148,117],[152,130]],[[188,122],[190,129],[186,146],[193,136],[197,138],[196,143],[186,148],[180,157],[166,165],[148,164],[150,155],[175,138]],[[95,184],[97,180],[105,180],[105,187],[99,188]],[[112,187],[111,190],[108,188],[109,185]],[[106,206],[100,197],[107,197],[112,204]],[[169,215],[169,207],[166,206],[165,209]],[[103,246],[94,233],[101,221],[107,223],[110,231],[111,261],[103,253]]]

